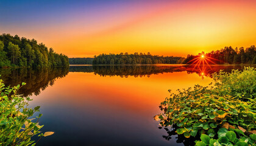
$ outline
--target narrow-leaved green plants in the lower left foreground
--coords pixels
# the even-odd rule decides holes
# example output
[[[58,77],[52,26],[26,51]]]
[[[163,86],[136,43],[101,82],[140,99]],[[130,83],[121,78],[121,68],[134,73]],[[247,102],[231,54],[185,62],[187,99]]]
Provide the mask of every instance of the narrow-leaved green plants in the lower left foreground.
[[[25,83],[22,83],[22,86],[24,85]],[[43,125],[39,125],[38,120],[42,114],[36,119],[31,119],[34,113],[39,111],[40,106],[28,108],[31,99],[18,96],[16,93],[20,88],[20,85],[13,88],[5,87],[0,80],[0,145],[35,145],[41,137],[54,134],[40,132]],[[39,136],[37,142],[31,140],[35,135]]]

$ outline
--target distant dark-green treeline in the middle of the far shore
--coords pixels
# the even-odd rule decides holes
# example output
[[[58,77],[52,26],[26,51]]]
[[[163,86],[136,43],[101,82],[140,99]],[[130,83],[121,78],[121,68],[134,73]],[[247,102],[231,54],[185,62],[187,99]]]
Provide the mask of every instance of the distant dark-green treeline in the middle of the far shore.
[[[101,54],[94,56],[93,64],[181,64],[183,57],[163,57],[148,54]]]

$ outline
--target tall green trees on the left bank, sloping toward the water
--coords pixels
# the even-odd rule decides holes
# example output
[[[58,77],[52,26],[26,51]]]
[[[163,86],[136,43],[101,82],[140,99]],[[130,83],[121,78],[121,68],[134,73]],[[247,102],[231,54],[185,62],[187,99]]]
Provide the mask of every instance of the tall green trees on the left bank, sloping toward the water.
[[[52,48],[48,50],[43,43],[38,44],[34,39],[29,40],[5,33],[0,35],[0,68],[5,66],[45,68],[68,65],[66,55],[57,54]]]

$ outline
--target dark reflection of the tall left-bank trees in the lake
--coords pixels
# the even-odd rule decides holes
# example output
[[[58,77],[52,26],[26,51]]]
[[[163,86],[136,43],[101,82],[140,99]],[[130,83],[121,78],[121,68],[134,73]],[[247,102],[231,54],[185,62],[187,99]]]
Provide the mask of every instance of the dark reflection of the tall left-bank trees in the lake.
[[[65,77],[68,74],[68,67],[66,68],[43,68],[43,69],[29,69],[29,68],[18,68],[18,69],[0,69],[1,79],[7,86],[21,85],[22,82],[26,83],[18,91],[18,94],[23,96],[32,96],[35,94],[38,96],[40,91],[46,89],[49,85],[54,85],[57,78]]]

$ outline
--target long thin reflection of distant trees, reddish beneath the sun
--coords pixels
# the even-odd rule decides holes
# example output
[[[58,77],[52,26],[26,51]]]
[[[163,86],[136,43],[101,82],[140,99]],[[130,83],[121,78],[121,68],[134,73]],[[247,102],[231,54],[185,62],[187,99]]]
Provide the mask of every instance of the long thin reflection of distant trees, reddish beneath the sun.
[[[94,72],[102,77],[150,77],[151,75],[168,72],[196,73],[200,77],[212,77],[214,72],[224,70],[231,72],[232,69],[243,69],[244,66],[200,66],[197,65],[114,65],[114,66],[70,66],[70,72]]]

